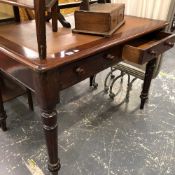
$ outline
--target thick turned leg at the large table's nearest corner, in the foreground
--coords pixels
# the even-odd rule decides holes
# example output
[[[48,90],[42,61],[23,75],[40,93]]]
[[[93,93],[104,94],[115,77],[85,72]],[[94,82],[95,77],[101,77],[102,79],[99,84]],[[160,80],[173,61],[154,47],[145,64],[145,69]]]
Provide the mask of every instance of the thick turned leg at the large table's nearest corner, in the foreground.
[[[48,152],[48,169],[57,175],[60,169],[58,158],[58,124],[56,104],[59,99],[57,72],[34,74],[35,95],[41,109],[44,135]]]

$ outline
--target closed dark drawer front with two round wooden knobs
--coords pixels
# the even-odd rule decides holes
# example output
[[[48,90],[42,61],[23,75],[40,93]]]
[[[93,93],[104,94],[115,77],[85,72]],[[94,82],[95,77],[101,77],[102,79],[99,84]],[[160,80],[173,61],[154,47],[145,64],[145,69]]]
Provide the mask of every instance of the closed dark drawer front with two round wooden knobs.
[[[118,47],[63,66],[59,71],[59,86],[63,90],[121,61]]]

